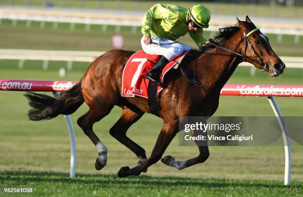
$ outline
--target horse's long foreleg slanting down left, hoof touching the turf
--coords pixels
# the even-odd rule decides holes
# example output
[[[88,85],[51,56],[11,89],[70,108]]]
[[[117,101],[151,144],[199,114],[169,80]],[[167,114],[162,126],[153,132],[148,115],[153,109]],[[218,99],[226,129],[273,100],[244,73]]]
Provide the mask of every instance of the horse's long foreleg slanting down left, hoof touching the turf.
[[[175,137],[178,131],[178,120],[164,123],[162,130],[158,136],[155,146],[152,150],[151,157],[146,160],[142,165],[136,166],[130,169],[128,166],[121,167],[118,176],[126,177],[130,175],[139,175],[141,172],[147,170],[149,166],[156,163],[163,155],[165,149],[168,147],[172,139]]]

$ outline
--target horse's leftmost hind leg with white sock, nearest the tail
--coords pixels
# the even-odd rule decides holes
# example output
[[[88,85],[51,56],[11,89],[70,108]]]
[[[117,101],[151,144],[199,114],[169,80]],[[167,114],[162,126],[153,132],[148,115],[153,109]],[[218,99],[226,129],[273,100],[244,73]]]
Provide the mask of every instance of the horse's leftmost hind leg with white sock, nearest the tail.
[[[110,108],[110,107],[109,107]],[[112,108],[112,107],[111,107]],[[96,159],[95,167],[97,170],[101,170],[105,165],[107,161],[107,148],[101,143],[99,138],[96,136],[96,134],[93,131],[93,125],[95,122],[98,122],[101,120],[104,116],[106,116],[110,109],[107,110],[96,110],[96,109],[90,109],[86,114],[81,116],[77,123],[82,128],[85,135],[87,135],[91,141],[96,146],[99,157]]]

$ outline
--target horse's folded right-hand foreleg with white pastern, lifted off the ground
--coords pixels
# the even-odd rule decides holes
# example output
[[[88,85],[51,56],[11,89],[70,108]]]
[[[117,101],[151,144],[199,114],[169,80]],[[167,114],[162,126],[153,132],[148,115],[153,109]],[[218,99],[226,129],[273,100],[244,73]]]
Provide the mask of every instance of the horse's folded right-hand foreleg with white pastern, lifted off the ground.
[[[194,134],[198,135],[197,132],[192,132],[193,136],[194,136]],[[183,161],[175,161],[174,157],[168,155],[168,156],[163,157],[161,159],[161,162],[166,165],[175,167],[178,170],[182,170],[184,168],[190,167],[190,166],[198,164],[198,163],[203,163],[204,161],[206,161],[206,159],[209,156],[207,142],[206,142],[205,146],[199,146],[199,142],[197,142],[197,141],[195,141],[195,142],[198,145],[199,152],[200,152],[200,154],[197,157],[188,159],[188,160],[183,160]]]

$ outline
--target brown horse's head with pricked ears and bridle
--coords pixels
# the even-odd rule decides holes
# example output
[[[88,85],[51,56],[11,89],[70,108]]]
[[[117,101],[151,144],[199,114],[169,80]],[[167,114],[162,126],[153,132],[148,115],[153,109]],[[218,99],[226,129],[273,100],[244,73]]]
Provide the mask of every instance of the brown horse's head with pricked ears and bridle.
[[[242,49],[242,54],[249,57],[245,61],[267,71],[271,77],[281,75],[285,64],[271,48],[268,38],[256,28],[248,16],[246,21],[240,21],[238,18],[237,20],[244,37],[245,47]]]

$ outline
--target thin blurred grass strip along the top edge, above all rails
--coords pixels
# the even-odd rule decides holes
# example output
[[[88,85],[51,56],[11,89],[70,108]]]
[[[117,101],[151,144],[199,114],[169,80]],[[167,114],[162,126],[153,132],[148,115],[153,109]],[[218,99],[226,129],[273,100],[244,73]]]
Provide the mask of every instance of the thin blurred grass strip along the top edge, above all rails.
[[[44,0],[13,0],[15,5],[44,6]],[[30,4],[28,2],[31,2]],[[0,5],[8,5],[11,0],[1,0]],[[155,3],[179,4],[183,7],[192,7],[202,3],[213,14],[226,15],[256,15],[263,17],[303,17],[302,6],[274,6],[269,4],[248,4],[248,3],[218,3],[218,2],[197,2],[197,1],[169,1],[169,0],[49,0],[55,7],[84,7],[116,10],[141,10],[146,11]]]

